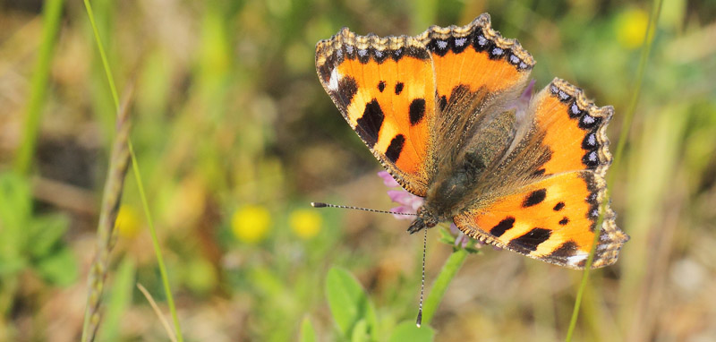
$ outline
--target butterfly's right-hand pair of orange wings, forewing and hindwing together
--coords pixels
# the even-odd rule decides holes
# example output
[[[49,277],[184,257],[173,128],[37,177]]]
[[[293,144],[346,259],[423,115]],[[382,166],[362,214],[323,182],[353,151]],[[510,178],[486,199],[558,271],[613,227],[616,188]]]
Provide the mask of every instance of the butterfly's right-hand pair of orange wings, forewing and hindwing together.
[[[594,106],[582,90],[556,79],[535,95],[528,111],[533,135],[521,153],[547,149],[548,158],[523,186],[457,215],[456,226],[535,259],[582,269],[605,198],[611,163],[605,129],[613,109]],[[609,204],[604,207],[593,268],[617,261],[629,238]]]

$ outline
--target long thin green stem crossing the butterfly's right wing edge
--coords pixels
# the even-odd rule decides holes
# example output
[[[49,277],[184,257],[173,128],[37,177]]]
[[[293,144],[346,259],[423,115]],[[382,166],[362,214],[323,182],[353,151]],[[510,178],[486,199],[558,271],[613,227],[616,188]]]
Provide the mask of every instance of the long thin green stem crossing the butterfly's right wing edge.
[[[642,48],[642,55],[639,58],[639,66],[636,69],[636,77],[635,77],[635,87],[634,87],[634,93],[632,94],[632,98],[629,101],[629,107],[626,108],[626,115],[624,117],[624,122],[622,123],[621,127],[621,133],[619,134],[619,142],[617,144],[617,150],[614,154],[614,163],[612,167],[616,168],[619,165],[619,162],[621,161],[622,155],[624,153],[624,147],[626,146],[626,139],[629,136],[629,131],[631,130],[632,122],[634,121],[634,115],[636,112],[636,105],[639,103],[639,97],[642,92],[642,83],[644,83],[644,73],[646,71],[646,64],[649,61],[649,56],[651,55],[652,51],[652,43],[654,38],[654,32],[656,31],[656,24],[657,21],[659,21],[659,15],[661,13],[661,3],[662,0],[653,0],[652,3],[652,13],[650,13],[649,16],[649,25],[646,27],[646,32],[644,33],[644,43]],[[592,269],[592,261],[594,260],[594,252],[596,250],[596,245],[599,239],[600,231],[601,231],[601,222],[603,220],[603,213],[605,211],[605,206],[609,202],[609,189],[611,188],[614,179],[615,174],[612,172],[609,177],[607,178],[607,192],[605,195],[605,200],[601,203],[601,210],[600,210],[600,217],[597,220],[597,229],[594,232],[594,240],[592,241],[592,251],[589,253],[589,258],[587,258],[586,267],[584,267],[584,272],[582,273],[582,281],[579,284],[579,289],[576,293],[575,298],[575,307],[572,311],[572,318],[569,321],[569,328],[567,329],[567,338],[565,338],[566,342],[572,341],[572,337],[575,332],[576,327],[576,321],[579,317],[579,308],[582,304],[582,298],[584,296],[584,289],[587,286],[587,280],[589,279],[589,270]]]

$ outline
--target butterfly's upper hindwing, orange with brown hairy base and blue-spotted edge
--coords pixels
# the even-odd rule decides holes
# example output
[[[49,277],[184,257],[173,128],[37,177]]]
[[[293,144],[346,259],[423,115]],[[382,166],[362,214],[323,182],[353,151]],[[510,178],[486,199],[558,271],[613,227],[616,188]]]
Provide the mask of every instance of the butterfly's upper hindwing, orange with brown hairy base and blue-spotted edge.
[[[533,57],[516,39],[492,30],[487,13],[462,27],[433,26],[419,38],[430,50],[435,69],[438,155],[456,158],[515,102]]]

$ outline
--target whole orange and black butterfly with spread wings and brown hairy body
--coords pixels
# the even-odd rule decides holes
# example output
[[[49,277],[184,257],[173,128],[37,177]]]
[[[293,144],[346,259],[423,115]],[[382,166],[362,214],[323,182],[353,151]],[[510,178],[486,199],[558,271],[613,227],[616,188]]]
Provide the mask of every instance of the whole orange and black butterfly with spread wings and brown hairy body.
[[[592,267],[608,266],[629,239],[601,205],[614,109],[557,78],[525,97],[533,65],[488,13],[414,37],[344,28],[316,46],[320,82],[345,121],[424,198],[409,232],[452,221],[484,243],[584,269],[603,208]]]

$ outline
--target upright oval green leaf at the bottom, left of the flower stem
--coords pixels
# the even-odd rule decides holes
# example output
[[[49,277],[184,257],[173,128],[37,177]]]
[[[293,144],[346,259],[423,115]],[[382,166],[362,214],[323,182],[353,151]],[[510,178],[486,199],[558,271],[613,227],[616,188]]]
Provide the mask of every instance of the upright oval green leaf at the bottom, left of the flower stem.
[[[328,270],[326,277],[326,297],[338,328],[346,338],[353,336],[358,321],[365,320],[367,331],[377,339],[377,320],[373,305],[351,273],[336,267]]]

